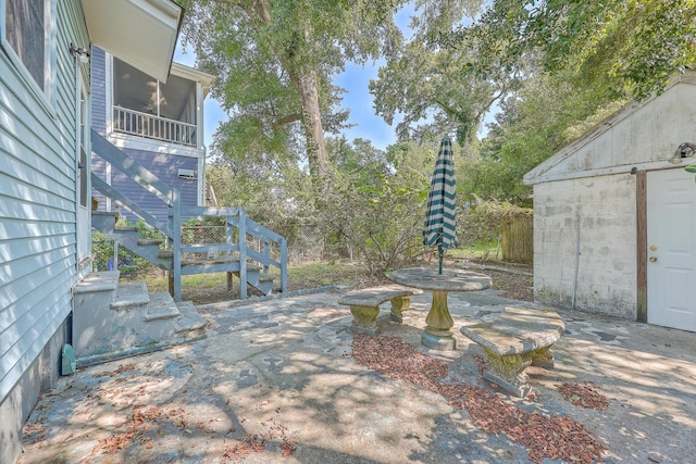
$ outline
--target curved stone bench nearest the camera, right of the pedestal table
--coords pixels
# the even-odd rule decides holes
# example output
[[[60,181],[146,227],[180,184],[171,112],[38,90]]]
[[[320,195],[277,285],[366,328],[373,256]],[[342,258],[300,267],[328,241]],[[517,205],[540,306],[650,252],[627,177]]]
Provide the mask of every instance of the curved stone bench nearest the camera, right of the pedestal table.
[[[550,348],[563,331],[563,319],[552,311],[506,308],[490,323],[464,326],[461,333],[483,348],[483,377],[505,390],[526,397],[531,391],[524,369],[530,365],[551,368]]]

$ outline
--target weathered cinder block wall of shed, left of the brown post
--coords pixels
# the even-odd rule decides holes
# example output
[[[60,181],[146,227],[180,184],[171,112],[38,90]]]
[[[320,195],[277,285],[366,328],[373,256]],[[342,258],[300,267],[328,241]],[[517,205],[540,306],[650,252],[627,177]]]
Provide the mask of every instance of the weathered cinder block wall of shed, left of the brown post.
[[[618,174],[534,186],[534,297],[570,308],[636,317],[635,176]]]

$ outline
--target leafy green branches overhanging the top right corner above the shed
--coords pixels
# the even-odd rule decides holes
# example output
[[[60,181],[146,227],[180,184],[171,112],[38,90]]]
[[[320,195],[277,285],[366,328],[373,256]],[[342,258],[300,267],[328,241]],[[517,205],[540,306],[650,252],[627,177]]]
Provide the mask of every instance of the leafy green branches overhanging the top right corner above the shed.
[[[494,0],[472,25],[440,43],[475,48],[480,76],[524,66],[538,52],[543,68],[576,84],[638,100],[664,89],[696,60],[694,0]]]

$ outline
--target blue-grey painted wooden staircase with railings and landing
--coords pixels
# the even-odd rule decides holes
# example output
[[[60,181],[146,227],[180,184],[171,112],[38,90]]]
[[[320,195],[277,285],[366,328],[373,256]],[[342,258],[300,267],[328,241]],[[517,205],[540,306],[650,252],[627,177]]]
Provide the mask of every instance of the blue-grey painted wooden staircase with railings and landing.
[[[287,242],[284,237],[251,221],[241,209],[183,206],[176,189],[170,188],[95,130],[91,131],[91,137],[95,154],[154,193],[167,204],[170,211],[167,221],[158,220],[92,173],[94,189],[142,218],[161,234],[162,240],[141,239],[138,237],[136,227],[119,227],[115,212],[92,211],[92,228],[135,254],[169,271],[170,292],[174,301],[182,300],[183,275],[217,272],[227,273],[228,285],[232,284],[232,276],[239,278],[241,299],[248,297],[247,286],[256,288],[263,294],[271,294],[274,291],[282,294],[287,292]],[[183,243],[183,221],[188,217],[203,216],[224,218],[224,240],[212,243]],[[249,240],[258,243],[258,248],[248,246]],[[272,267],[278,269],[275,274],[277,283],[270,272]]]

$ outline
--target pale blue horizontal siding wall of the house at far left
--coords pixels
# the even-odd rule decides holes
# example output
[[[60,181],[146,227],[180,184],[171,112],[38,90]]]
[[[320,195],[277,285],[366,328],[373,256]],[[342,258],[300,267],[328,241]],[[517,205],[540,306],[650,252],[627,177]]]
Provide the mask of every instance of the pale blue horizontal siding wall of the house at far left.
[[[59,375],[76,263],[76,65],[89,43],[78,0],[53,1],[50,98],[0,50],[0,462]],[[2,26],[3,27],[3,26]]]

